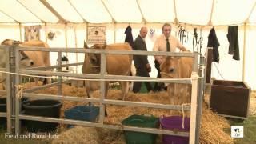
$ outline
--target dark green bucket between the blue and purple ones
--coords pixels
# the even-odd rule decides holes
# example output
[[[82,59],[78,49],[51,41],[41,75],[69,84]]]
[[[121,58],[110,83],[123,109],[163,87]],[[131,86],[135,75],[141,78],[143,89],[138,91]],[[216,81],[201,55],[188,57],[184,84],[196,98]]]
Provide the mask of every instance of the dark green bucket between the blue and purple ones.
[[[159,118],[144,115],[131,115],[122,121],[122,125],[158,128]],[[125,131],[125,138],[127,144],[153,144],[157,134]]]

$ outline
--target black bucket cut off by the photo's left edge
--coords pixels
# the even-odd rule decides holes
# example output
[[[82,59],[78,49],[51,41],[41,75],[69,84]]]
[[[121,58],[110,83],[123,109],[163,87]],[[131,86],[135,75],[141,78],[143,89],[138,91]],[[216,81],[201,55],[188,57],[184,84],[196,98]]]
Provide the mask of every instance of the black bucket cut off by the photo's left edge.
[[[22,98],[22,105],[29,102],[28,98]],[[22,106],[22,110],[24,107]],[[6,113],[6,98],[0,98],[0,112]],[[6,126],[6,118],[0,117],[0,126]]]

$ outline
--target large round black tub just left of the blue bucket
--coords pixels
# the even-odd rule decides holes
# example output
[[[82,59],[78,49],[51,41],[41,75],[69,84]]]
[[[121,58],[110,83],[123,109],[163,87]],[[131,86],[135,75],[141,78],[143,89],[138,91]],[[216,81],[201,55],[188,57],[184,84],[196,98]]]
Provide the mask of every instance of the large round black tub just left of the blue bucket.
[[[26,115],[59,118],[62,102],[50,99],[38,99],[23,104]],[[56,130],[58,123],[26,121],[29,132],[48,132]]]

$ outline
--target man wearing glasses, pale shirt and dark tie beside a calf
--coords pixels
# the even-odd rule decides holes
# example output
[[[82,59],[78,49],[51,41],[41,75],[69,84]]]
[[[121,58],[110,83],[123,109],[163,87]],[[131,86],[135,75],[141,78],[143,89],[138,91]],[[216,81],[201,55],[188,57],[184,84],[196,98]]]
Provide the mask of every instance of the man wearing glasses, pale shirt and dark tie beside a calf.
[[[156,39],[154,42],[153,51],[170,51],[175,52],[176,48],[182,51],[186,51],[186,48],[182,46],[182,43],[178,41],[178,38],[170,35],[171,32],[171,25],[169,23],[165,23],[162,26],[162,34],[160,37]],[[154,56],[154,66],[158,70],[158,78],[161,77],[160,75],[160,68],[159,66],[164,62],[165,56]],[[160,91],[163,88],[163,83],[155,83],[154,91]]]

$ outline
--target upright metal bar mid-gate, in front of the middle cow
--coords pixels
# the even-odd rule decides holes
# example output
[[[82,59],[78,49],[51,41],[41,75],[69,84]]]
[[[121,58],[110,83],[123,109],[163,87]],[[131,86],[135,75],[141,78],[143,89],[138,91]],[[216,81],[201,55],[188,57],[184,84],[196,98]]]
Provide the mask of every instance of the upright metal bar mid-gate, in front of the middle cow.
[[[106,74],[106,55],[104,53],[101,54],[101,78],[104,78]],[[105,110],[106,107],[103,104],[104,99],[106,98],[106,82],[101,81],[101,96],[100,96],[100,111],[99,111],[99,122],[103,124],[105,118]]]

